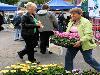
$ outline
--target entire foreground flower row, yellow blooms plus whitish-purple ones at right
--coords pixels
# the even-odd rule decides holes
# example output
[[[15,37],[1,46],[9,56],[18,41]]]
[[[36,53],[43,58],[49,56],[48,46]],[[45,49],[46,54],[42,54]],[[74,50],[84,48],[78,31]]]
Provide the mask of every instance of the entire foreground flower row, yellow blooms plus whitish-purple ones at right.
[[[81,70],[74,69],[67,71],[62,65],[58,64],[37,64],[37,63],[21,64],[17,63],[11,66],[5,67],[5,70],[0,70],[0,75],[100,75],[95,70]]]

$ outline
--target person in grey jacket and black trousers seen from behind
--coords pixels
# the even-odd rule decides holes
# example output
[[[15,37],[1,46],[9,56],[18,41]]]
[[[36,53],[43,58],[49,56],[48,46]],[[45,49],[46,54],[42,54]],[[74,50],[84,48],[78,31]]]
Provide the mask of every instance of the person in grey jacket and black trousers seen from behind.
[[[55,15],[49,11],[50,7],[47,4],[42,6],[42,10],[37,12],[37,19],[43,24],[43,28],[39,29],[40,32],[40,52],[46,53],[49,47],[49,37],[53,35],[53,30],[57,28],[57,19]],[[49,52],[51,53],[51,52]]]

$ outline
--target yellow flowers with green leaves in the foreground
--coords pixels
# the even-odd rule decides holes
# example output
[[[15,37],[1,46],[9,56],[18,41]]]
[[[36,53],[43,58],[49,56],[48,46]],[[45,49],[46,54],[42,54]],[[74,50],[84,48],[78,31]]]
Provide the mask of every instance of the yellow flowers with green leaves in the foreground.
[[[66,75],[66,71],[62,65],[42,65],[30,63],[29,61],[25,64],[17,63],[7,66],[5,67],[5,70],[0,71],[0,74],[1,73],[3,75]]]

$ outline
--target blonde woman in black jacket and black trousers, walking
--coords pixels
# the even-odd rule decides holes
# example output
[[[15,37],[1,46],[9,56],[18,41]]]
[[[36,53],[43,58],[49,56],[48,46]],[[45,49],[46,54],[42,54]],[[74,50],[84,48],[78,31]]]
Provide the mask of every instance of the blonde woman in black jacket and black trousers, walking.
[[[26,43],[25,49],[18,52],[21,59],[25,54],[28,55],[28,60],[35,62],[34,48],[38,44],[38,28],[42,27],[41,22],[35,19],[36,4],[28,2],[26,5],[27,13],[22,16],[22,37]]]

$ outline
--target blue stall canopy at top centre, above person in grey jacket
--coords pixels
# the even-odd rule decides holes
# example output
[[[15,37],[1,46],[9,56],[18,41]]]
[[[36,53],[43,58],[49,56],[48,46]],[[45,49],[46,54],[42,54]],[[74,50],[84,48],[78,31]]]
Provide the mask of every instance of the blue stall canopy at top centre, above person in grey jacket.
[[[64,0],[51,0],[47,3],[51,9],[71,9],[75,7],[80,7],[80,6],[75,6],[69,2],[65,2]]]

